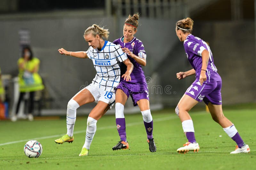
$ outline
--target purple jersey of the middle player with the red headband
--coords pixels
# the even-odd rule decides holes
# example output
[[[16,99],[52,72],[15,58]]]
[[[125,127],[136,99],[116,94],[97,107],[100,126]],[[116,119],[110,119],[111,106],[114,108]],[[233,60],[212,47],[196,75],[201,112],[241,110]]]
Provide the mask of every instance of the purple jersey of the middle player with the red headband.
[[[140,58],[146,59],[147,55],[144,49],[144,46],[142,42],[134,37],[130,42],[124,43],[123,41],[124,37],[121,37],[119,39],[116,39],[113,41],[114,44],[121,46],[122,48],[126,47],[128,48],[133,54],[137,55]],[[135,61],[131,56],[127,55],[128,59],[132,62],[133,64],[133,70],[131,73],[131,78],[132,80],[129,81],[131,83],[146,83],[146,78],[144,75],[144,71],[142,70],[141,65]],[[126,66],[124,63],[121,64],[121,75],[123,75],[126,72]],[[124,81],[124,79],[120,79],[120,81]]]

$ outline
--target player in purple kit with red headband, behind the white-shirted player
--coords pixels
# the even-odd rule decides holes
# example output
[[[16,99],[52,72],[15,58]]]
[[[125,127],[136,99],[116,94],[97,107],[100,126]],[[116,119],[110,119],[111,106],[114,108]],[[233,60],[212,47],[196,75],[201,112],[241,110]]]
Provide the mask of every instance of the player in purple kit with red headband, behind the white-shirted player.
[[[129,144],[126,141],[124,105],[129,96],[132,97],[134,106],[139,106],[144,120],[148,136],[148,145],[150,152],[156,152],[156,145],[153,138],[153,119],[149,109],[148,86],[141,66],[146,66],[146,52],[142,42],[134,37],[137,32],[139,14],[134,14],[124,22],[124,36],[116,39],[113,43],[122,47],[123,51],[131,60],[134,68],[131,73],[132,81],[120,80],[116,90],[116,127],[120,136],[120,141],[114,146],[113,150],[128,149]],[[121,64],[121,74],[126,70],[126,66]]]

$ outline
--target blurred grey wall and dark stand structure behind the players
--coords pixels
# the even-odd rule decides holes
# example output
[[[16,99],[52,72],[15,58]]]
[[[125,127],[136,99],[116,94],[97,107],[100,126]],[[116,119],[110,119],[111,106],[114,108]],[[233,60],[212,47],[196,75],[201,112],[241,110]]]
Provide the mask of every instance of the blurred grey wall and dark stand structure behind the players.
[[[4,84],[9,108],[13,112],[17,100],[14,77],[22,44],[30,44],[41,60],[39,74],[45,89],[35,99],[35,111],[65,115],[69,99],[91,83],[95,70],[90,60],[62,56],[57,50],[86,51],[84,30],[95,23],[109,29],[109,41],[120,38],[125,18],[136,12],[141,18],[135,36],[147,53],[143,70],[151,109],[175,107],[194,80],[194,76],[176,78],[177,72],[191,69],[175,33],[176,22],[186,17],[194,20],[193,35],[211,47],[222,77],[222,103],[255,103],[255,4],[254,0],[77,0],[72,4],[67,0],[1,0],[0,67],[3,75],[12,77]],[[88,114],[93,105],[86,104],[77,113]],[[131,101],[125,107],[139,112]]]

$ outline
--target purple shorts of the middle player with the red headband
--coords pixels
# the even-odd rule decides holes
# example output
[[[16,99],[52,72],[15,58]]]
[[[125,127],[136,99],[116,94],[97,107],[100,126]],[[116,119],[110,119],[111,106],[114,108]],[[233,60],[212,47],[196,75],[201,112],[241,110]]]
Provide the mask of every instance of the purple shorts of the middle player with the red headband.
[[[146,83],[130,83],[126,81],[120,81],[116,89],[121,89],[127,96],[132,97],[133,106],[138,106],[137,102],[140,99],[147,99],[148,97],[148,85]]]

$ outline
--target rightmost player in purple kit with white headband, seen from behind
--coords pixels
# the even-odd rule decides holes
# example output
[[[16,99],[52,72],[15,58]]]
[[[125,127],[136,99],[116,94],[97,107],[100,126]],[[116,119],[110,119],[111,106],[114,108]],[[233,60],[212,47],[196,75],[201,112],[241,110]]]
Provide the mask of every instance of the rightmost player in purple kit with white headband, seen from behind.
[[[194,135],[194,126],[188,111],[202,100],[208,106],[212,119],[220,124],[223,130],[232,138],[237,146],[231,153],[250,152],[248,145],[244,143],[234,124],[223,115],[221,105],[221,78],[217,73],[217,68],[213,63],[210,47],[200,38],[191,34],[193,29],[191,18],[182,19],[176,24],[176,34],[183,45],[193,69],[186,72],[177,73],[177,78],[183,79],[189,75],[196,74],[196,80],[187,89],[180,99],[175,112],[180,117],[182,128],[188,138],[184,147],[177,149],[179,153],[199,150]]]

